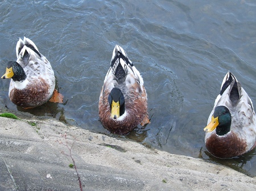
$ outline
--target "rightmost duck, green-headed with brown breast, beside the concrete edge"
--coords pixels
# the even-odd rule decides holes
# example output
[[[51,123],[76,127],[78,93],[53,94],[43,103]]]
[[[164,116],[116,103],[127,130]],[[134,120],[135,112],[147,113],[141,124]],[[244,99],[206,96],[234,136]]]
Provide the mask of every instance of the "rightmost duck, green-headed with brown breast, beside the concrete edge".
[[[239,156],[256,146],[253,103],[229,71],[204,131],[207,150],[217,158]]]

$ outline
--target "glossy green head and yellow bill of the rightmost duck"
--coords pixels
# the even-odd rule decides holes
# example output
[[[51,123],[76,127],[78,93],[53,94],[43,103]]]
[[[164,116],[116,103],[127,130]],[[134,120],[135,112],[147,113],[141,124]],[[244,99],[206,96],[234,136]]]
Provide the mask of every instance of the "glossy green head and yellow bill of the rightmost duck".
[[[225,135],[230,131],[231,114],[225,106],[217,106],[214,109],[212,120],[204,128],[205,132],[211,132],[216,129],[217,135]]]

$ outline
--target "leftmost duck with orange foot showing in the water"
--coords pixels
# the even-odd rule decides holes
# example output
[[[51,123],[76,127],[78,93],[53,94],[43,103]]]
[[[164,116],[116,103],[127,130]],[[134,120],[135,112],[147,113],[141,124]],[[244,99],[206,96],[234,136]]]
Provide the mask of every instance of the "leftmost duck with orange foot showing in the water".
[[[55,90],[52,66],[30,39],[19,39],[16,62],[7,63],[3,79],[11,78],[9,97],[15,105],[34,108],[51,101],[62,103],[63,96]],[[54,95],[53,95],[54,92]]]

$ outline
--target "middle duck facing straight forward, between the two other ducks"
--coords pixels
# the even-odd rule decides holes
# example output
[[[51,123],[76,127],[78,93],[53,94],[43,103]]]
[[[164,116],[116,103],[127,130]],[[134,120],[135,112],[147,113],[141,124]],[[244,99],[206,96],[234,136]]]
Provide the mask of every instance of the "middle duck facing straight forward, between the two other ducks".
[[[120,46],[115,45],[110,63],[100,94],[99,116],[112,133],[127,134],[139,123],[149,122],[147,94],[141,74]]]

